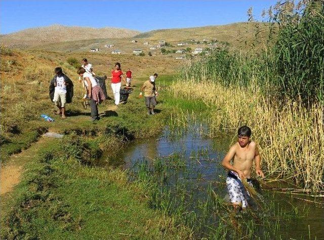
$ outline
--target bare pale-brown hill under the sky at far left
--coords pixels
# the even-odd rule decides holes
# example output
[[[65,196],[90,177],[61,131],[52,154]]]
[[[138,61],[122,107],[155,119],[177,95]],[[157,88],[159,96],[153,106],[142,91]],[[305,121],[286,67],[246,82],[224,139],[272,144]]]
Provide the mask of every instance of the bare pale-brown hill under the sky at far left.
[[[1,36],[1,42],[13,47],[28,47],[83,39],[132,37],[138,33],[139,31],[135,30],[112,27],[91,28],[52,25],[5,34]]]

